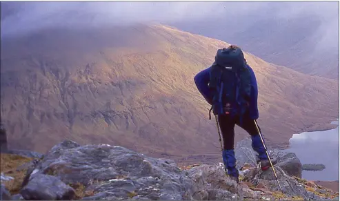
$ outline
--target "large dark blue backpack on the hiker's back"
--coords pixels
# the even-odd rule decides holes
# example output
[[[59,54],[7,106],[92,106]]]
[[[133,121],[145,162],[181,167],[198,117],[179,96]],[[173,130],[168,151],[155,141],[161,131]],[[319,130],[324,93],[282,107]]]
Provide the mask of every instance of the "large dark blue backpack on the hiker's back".
[[[213,111],[214,115],[238,115],[241,118],[250,98],[250,77],[246,59],[239,47],[229,46],[217,50],[210,69],[209,88],[213,94],[210,112]],[[230,104],[228,110],[226,104]]]

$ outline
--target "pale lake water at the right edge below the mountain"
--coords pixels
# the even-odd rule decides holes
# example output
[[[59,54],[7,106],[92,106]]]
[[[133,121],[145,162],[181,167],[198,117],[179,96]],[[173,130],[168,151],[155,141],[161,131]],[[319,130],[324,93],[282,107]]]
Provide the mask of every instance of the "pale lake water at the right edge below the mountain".
[[[302,171],[306,180],[339,180],[339,119],[338,127],[328,131],[294,134],[290,138],[290,151],[295,153],[302,164],[324,164],[323,171]]]

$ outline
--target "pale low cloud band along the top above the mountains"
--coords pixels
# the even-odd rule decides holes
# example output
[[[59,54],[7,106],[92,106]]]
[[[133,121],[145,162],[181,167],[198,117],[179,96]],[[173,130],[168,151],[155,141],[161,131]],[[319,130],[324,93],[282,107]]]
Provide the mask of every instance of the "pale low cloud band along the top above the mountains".
[[[51,27],[176,24],[217,18],[246,30],[261,19],[294,20],[308,15],[317,16],[321,23],[313,33],[319,39],[318,48],[339,48],[337,1],[1,1],[1,39]]]

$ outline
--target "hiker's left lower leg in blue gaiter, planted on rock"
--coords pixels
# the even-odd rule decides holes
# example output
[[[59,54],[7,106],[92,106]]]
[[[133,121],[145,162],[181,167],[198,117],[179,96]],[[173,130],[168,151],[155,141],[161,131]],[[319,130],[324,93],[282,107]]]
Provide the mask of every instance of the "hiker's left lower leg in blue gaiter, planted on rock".
[[[239,183],[239,171],[236,168],[236,158],[234,149],[223,150],[222,153],[223,164],[225,166],[225,171],[230,179]]]

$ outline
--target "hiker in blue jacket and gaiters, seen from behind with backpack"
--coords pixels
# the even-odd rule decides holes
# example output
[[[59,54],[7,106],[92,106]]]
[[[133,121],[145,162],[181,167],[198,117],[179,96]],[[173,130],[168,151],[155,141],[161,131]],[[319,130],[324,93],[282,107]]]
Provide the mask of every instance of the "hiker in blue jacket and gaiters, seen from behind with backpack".
[[[255,123],[259,118],[257,81],[242,50],[237,46],[217,50],[212,66],[199,72],[194,82],[201,95],[212,105],[210,112],[217,115],[223,136],[223,164],[229,177],[239,182],[234,155],[235,124],[251,135],[252,149],[258,153],[261,169],[268,169],[270,162]],[[272,159],[272,164],[276,163],[277,160]]]

